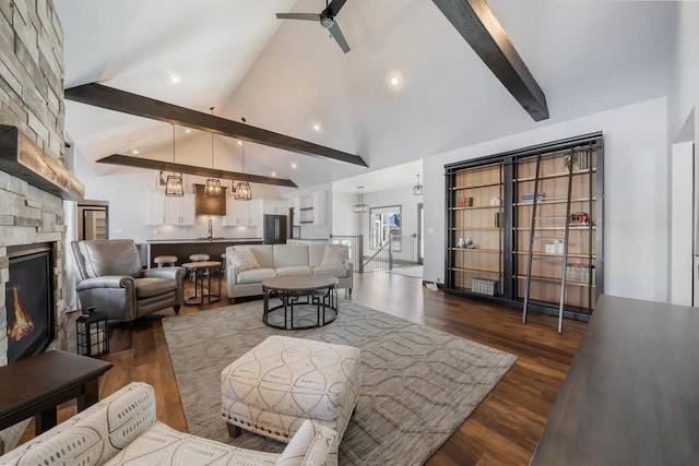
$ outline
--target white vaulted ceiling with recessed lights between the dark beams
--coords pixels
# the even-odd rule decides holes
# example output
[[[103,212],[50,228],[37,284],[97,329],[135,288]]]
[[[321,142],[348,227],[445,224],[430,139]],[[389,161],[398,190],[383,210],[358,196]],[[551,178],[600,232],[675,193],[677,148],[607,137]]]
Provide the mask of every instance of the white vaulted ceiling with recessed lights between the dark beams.
[[[66,87],[99,82],[202,112],[214,107],[216,116],[355,154],[369,166],[245,144],[246,172],[301,188],[663,96],[676,22],[674,2],[489,0],[546,95],[550,118],[535,122],[427,0],[347,0],[336,17],[346,55],[319,24],[275,17],[320,12],[322,0],[55,3]],[[66,106],[67,133],[88,163],[135,152],[171,162],[169,124]],[[236,142],[215,138],[216,168],[241,169]],[[210,134],[178,128],[177,147],[177,163],[212,166]],[[389,178],[399,177],[383,177],[384,187]]]

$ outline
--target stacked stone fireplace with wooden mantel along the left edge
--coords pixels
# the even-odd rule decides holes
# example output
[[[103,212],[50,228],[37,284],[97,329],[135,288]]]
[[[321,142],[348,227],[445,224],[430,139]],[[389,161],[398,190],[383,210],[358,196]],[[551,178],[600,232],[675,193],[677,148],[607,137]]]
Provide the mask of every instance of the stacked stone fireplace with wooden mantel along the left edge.
[[[0,366],[8,363],[10,345],[12,358],[68,346],[63,200],[82,199],[84,188],[63,166],[63,31],[54,1],[0,1]],[[17,320],[11,261],[26,249],[44,250],[50,316],[34,324],[46,325],[39,328],[44,339],[15,356],[8,339],[8,322]],[[46,306],[33,297],[24,301]],[[23,430],[19,425],[0,432],[0,451]]]

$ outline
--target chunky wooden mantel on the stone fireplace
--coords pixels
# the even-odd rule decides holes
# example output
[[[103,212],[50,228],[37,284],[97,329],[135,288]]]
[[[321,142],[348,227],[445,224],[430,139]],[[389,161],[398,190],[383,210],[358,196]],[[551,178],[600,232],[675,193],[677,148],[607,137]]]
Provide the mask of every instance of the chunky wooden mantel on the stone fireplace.
[[[16,127],[0,124],[0,170],[64,200],[85,195],[83,183]]]

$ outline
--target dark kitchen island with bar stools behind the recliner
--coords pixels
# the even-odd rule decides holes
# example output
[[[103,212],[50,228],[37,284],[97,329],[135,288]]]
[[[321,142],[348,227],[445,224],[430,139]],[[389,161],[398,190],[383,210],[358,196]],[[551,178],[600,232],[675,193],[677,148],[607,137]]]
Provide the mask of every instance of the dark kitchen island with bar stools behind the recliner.
[[[221,261],[221,254],[229,246],[262,244],[262,238],[193,238],[150,239],[146,242],[147,267],[157,267],[153,262],[158,255],[177,255],[177,264],[190,262],[190,254],[209,254],[212,261]]]

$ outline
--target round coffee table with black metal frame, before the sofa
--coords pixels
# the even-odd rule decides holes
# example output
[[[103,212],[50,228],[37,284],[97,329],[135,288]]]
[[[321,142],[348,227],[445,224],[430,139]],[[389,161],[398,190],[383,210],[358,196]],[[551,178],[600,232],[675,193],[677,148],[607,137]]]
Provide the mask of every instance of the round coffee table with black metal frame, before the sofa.
[[[337,278],[332,275],[283,275],[262,282],[264,311],[262,322],[279,330],[304,330],[327,325],[337,318]],[[270,308],[270,296],[275,295],[281,304]],[[305,300],[303,298],[306,298]],[[316,323],[294,326],[294,307],[316,307]],[[271,323],[270,313],[284,311],[283,324]],[[308,318],[308,312],[305,319]],[[280,319],[281,320],[281,319]]]

